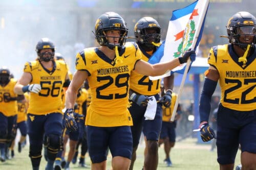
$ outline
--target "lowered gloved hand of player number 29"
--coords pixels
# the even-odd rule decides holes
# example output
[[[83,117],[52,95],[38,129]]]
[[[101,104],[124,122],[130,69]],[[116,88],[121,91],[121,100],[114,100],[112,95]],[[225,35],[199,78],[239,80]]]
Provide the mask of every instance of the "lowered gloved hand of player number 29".
[[[74,114],[77,114],[74,112],[74,109],[67,109],[64,113],[65,126],[70,132],[76,131],[78,128]]]

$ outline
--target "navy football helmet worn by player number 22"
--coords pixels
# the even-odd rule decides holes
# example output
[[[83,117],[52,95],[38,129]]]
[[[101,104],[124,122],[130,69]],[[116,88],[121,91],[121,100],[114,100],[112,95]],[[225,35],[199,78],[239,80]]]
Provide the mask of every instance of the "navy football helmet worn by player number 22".
[[[239,37],[241,35],[250,35],[254,36],[253,42],[251,45],[255,44],[255,36],[256,36],[256,19],[249,12],[238,12],[234,14],[227,23],[227,35],[229,42],[232,44],[237,44],[243,49],[246,49],[246,43],[242,43],[239,41]],[[245,31],[246,30],[246,33]]]

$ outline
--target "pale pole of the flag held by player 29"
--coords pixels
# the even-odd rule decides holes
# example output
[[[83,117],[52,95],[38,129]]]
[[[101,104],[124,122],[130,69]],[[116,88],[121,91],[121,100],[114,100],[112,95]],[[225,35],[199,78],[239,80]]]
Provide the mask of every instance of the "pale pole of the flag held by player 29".
[[[206,11],[207,11],[207,8],[208,8],[208,5],[209,5],[209,0],[203,0],[202,3],[204,3],[204,8],[203,8],[203,11],[202,11],[202,15],[200,15],[200,18],[199,18],[199,24],[198,24],[198,27],[197,27],[196,32],[195,32],[195,37],[194,37],[194,40],[192,42],[191,49],[194,49],[195,46],[196,46],[199,33],[202,29],[202,24],[203,24],[203,21],[204,21],[204,17],[206,15]],[[199,29],[199,28],[201,28],[201,29]],[[175,102],[175,105],[174,105],[174,110],[173,110],[173,113],[172,113],[172,117],[170,118],[170,121],[172,121],[172,122],[174,122],[174,118],[175,118],[175,115],[176,115],[176,112],[177,112],[178,104],[179,104],[179,101],[180,101],[180,95],[181,95],[181,92],[183,90],[184,83],[185,83],[185,80],[186,80],[186,77],[187,77],[187,72],[188,72],[188,68],[189,68],[189,65],[190,65],[190,61],[191,60],[189,58],[187,60],[187,63],[186,63],[186,67],[185,67],[184,74],[183,74],[183,77],[182,77],[182,80],[181,80],[180,88],[179,88],[179,91],[178,91],[178,94],[177,94],[178,96],[177,96],[177,99],[176,99],[176,102]]]

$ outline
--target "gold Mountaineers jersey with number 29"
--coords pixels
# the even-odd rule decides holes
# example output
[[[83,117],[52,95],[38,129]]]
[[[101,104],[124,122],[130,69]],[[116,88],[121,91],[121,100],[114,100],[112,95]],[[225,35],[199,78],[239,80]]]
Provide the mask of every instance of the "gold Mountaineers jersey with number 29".
[[[86,48],[76,56],[76,69],[89,73],[91,103],[86,125],[97,127],[131,126],[127,109],[129,79],[135,63],[141,58],[136,45],[126,43],[119,50],[122,62],[106,57],[98,48]]]

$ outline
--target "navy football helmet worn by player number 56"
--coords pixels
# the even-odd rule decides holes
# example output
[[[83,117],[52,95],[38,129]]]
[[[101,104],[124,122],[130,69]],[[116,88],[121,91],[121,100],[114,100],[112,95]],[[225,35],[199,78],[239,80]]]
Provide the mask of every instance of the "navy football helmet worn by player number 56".
[[[50,55],[50,57],[42,57],[42,55],[40,54],[40,51],[42,49],[47,49],[47,48],[52,49],[53,53]],[[35,51],[37,53],[39,61],[51,61],[54,58],[55,46],[49,38],[42,38],[37,42]]]

